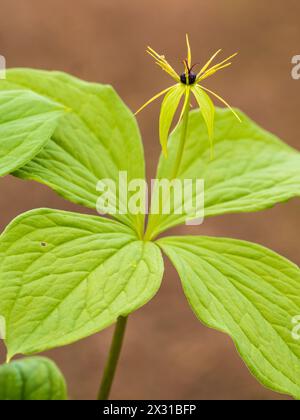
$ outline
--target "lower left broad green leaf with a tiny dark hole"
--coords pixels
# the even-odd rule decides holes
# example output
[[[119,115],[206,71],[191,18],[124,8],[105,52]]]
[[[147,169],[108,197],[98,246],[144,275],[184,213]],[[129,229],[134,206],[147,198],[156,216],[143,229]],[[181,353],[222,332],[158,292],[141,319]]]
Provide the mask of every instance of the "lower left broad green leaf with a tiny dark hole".
[[[148,302],[159,248],[99,216],[39,209],[0,237],[0,315],[8,357],[72,343]]]

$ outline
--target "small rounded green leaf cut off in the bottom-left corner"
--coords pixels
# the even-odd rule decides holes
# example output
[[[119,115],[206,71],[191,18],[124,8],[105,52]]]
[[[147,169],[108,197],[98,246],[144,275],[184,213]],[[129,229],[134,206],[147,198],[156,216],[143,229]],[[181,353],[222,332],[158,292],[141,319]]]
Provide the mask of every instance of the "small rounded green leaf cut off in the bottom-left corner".
[[[0,400],[57,401],[67,399],[65,379],[45,357],[32,357],[0,366]]]

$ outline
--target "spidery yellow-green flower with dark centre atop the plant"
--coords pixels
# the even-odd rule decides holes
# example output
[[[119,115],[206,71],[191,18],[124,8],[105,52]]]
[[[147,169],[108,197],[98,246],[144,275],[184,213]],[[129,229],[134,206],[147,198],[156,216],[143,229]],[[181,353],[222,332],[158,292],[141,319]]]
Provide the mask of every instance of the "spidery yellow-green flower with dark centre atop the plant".
[[[154,58],[156,64],[159,67],[161,67],[166,73],[168,73],[172,77],[172,79],[174,79],[174,81],[176,82],[175,85],[172,85],[168,87],[167,89],[164,89],[162,92],[158,93],[157,95],[155,95],[136,112],[136,114],[138,114],[140,111],[146,108],[146,106],[148,106],[151,102],[155,101],[156,99],[158,99],[159,97],[163,95],[166,95],[162,102],[161,112],[160,112],[160,121],[159,121],[159,137],[160,137],[162,150],[165,156],[167,156],[167,143],[168,143],[168,136],[169,136],[170,128],[172,125],[172,121],[174,119],[174,115],[176,113],[176,110],[183,96],[184,96],[184,102],[183,102],[183,107],[180,114],[179,122],[182,120],[183,116],[189,112],[190,98],[191,98],[191,94],[193,94],[200,107],[200,111],[202,113],[205,124],[207,126],[208,136],[211,142],[211,149],[213,145],[215,106],[208,94],[213,95],[214,97],[219,99],[223,104],[225,104],[233,112],[236,118],[240,121],[240,118],[237,115],[237,113],[230,107],[230,105],[223,98],[221,98],[215,92],[202,86],[203,80],[212,76],[217,71],[230,66],[231,62],[229,62],[229,60],[235,57],[237,53],[231,55],[230,57],[226,58],[220,63],[211,66],[213,60],[221,52],[221,50],[218,50],[208,60],[208,62],[201,68],[201,70],[198,73],[195,73],[194,68],[196,65],[195,64],[192,65],[192,54],[191,54],[191,47],[190,47],[188,35],[186,35],[186,43],[187,43],[187,58],[183,61],[184,72],[181,75],[176,73],[176,71],[168,63],[164,55],[158,54],[151,47],[147,48],[148,54],[150,54],[151,57]]]

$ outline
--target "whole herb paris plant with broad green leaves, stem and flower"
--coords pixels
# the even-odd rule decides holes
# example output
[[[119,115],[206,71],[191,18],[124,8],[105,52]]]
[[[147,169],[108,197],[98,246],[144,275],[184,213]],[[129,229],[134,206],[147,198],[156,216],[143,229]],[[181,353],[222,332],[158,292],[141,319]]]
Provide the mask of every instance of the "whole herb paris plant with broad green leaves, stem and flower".
[[[180,89],[186,89],[189,81],[180,80]],[[167,128],[161,133],[168,156],[162,154],[157,178],[204,178],[206,217],[263,210],[300,195],[300,154],[238,110],[234,114],[241,123],[231,110],[215,110],[209,102],[215,117],[211,159],[205,102],[200,101],[202,115],[189,112],[188,96],[182,121],[166,145],[174,103],[177,98],[171,107],[163,104],[161,124]],[[2,175],[41,182],[92,209],[99,179],[116,180],[120,171],[129,179],[145,178],[136,120],[110,86],[60,72],[9,70],[0,81],[0,106]],[[166,117],[168,110],[172,115]],[[143,214],[113,216],[117,220],[38,209],[5,229],[0,238],[0,315],[6,319],[8,360],[72,343],[117,321],[99,393],[107,398],[124,319],[158,291],[163,251],[200,321],[229,334],[264,385],[300,398],[300,347],[291,334],[291,320],[300,314],[295,264],[244,241],[198,236],[157,240],[184,222],[175,205],[168,215],[150,214],[145,230]]]

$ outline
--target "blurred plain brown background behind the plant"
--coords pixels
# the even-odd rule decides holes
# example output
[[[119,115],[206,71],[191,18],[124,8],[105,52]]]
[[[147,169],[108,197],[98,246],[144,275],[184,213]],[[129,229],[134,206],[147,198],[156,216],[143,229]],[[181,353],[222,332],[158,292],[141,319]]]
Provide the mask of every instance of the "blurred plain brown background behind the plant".
[[[291,58],[300,54],[298,0],[0,0],[0,13],[0,54],[9,67],[64,70],[110,83],[133,110],[169,82],[145,54],[146,45],[166,53],[174,65],[184,58],[186,32],[196,61],[219,48],[227,55],[239,51],[231,70],[208,87],[300,149],[300,80],[290,74]],[[138,118],[152,177],[160,152],[158,110],[154,105]],[[1,180],[0,191],[1,229],[31,208],[82,211],[46,187],[13,177]],[[299,205],[295,199],[194,229],[258,242],[300,264]],[[111,334],[108,329],[48,352],[66,375],[71,398],[95,398]],[[0,352],[3,361],[3,347]],[[252,378],[229,338],[200,325],[166,262],[159,294],[130,317],[112,398],[285,397]]]

